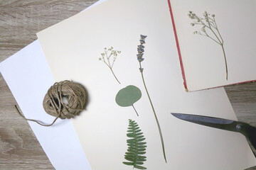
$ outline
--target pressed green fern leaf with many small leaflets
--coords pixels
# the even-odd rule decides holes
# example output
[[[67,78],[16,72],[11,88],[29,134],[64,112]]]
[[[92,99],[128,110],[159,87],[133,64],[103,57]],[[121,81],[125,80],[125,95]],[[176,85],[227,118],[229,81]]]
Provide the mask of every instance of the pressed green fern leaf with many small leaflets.
[[[146,167],[142,166],[146,161],[146,156],[144,156],[146,154],[145,137],[134,120],[129,119],[127,137],[130,139],[127,140],[128,149],[124,154],[124,159],[129,162],[123,162],[123,164],[131,165],[137,169],[146,169]]]

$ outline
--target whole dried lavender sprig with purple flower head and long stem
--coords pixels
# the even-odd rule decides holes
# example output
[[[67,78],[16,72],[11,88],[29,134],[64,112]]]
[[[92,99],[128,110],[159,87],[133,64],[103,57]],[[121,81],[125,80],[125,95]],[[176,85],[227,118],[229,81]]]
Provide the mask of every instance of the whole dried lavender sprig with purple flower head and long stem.
[[[149,102],[150,102],[151,108],[152,108],[153,113],[154,113],[154,118],[156,119],[156,124],[157,124],[157,127],[159,129],[159,135],[160,135],[160,138],[161,138],[161,145],[162,145],[163,154],[164,154],[164,160],[166,162],[166,154],[165,154],[165,149],[164,149],[164,138],[163,138],[163,135],[162,135],[162,132],[161,132],[159,120],[158,120],[158,118],[156,116],[156,111],[154,110],[153,103],[152,103],[151,98],[149,96],[149,91],[146,88],[146,83],[145,83],[144,74],[143,74],[144,68],[142,68],[142,62],[144,60],[144,58],[143,58],[143,55],[144,55],[144,53],[143,53],[144,52],[144,44],[145,44],[145,38],[146,37],[147,37],[146,35],[140,35],[140,40],[139,40],[140,45],[138,45],[138,47],[137,47],[137,50],[138,50],[137,60],[139,61],[139,72],[142,75],[142,81],[143,81],[143,84],[144,84],[144,88],[145,88],[146,94],[147,94],[147,96],[149,98]]]

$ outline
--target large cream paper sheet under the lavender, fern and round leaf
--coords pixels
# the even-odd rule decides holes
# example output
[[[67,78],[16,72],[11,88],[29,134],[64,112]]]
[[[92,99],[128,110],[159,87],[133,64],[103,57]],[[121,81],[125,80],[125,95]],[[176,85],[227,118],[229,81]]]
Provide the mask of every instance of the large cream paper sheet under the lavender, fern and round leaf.
[[[144,79],[164,136],[159,132],[139,72],[139,35],[146,38]],[[122,164],[127,152],[128,120],[136,120],[146,137],[147,169],[245,169],[256,164],[245,137],[235,132],[194,125],[170,113],[193,113],[236,120],[223,88],[183,90],[168,2],[110,0],[38,33],[56,81],[83,84],[86,111],[73,125],[92,169],[132,169]],[[104,47],[121,50],[113,71],[99,61]],[[134,85],[142,98],[132,107],[115,103],[117,92]]]

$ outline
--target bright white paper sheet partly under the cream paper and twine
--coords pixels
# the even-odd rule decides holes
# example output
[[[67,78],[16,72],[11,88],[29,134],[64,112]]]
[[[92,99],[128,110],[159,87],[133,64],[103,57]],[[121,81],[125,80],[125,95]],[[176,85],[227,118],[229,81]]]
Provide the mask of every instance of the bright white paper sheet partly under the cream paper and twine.
[[[1,62],[0,71],[25,117],[52,123],[53,116],[43,110],[43,98],[55,80],[38,40]],[[71,120],[59,119],[50,127],[28,123],[55,169],[91,169]]]

